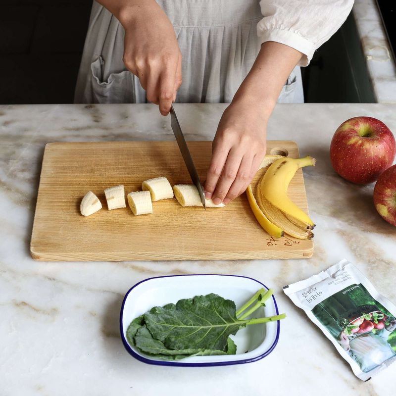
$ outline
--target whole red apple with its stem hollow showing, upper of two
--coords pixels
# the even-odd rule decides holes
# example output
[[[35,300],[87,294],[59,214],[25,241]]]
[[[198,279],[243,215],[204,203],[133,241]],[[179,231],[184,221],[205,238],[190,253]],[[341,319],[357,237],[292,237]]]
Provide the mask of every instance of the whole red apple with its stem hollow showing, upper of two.
[[[372,117],[342,123],[330,145],[334,170],[350,182],[375,182],[395,159],[396,142],[389,128]]]

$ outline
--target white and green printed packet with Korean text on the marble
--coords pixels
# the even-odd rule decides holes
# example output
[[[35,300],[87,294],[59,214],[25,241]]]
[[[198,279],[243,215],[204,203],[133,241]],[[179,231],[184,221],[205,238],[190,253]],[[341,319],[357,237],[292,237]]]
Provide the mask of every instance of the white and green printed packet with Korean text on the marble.
[[[396,306],[346,259],[283,290],[361,380],[395,361]]]

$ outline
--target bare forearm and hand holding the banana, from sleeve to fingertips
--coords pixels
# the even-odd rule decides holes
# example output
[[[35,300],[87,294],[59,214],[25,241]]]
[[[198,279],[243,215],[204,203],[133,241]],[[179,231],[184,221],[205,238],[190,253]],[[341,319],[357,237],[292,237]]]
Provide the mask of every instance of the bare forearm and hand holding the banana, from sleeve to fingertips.
[[[301,52],[265,42],[231,104],[213,141],[205,196],[215,204],[242,194],[265,155],[268,118]]]

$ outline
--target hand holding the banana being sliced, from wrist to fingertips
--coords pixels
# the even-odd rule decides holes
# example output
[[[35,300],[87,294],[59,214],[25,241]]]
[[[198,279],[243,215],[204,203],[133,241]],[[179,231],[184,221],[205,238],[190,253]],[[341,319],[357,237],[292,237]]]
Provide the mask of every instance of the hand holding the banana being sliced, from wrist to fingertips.
[[[213,140],[205,198],[227,204],[246,189],[265,155],[268,117],[257,104],[232,102]]]

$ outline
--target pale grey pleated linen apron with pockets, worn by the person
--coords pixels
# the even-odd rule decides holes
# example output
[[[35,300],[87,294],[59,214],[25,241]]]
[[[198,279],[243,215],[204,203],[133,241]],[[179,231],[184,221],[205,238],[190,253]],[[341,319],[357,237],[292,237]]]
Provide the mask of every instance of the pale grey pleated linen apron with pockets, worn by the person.
[[[172,22],[183,55],[176,102],[230,102],[260,50],[258,0],[157,0]],[[155,26],[154,26],[155,29]],[[124,29],[94,1],[75,103],[146,103],[139,79],[123,61]],[[303,102],[296,67],[278,102]]]

